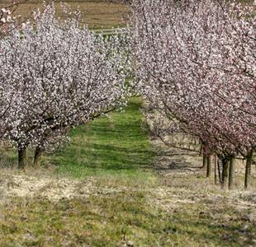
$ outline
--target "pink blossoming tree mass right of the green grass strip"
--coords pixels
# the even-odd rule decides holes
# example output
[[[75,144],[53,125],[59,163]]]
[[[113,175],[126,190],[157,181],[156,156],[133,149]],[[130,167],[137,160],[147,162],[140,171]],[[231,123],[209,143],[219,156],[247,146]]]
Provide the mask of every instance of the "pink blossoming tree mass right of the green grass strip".
[[[135,0],[132,7],[140,90],[168,119],[165,132],[197,137],[206,154],[220,157],[225,186],[229,161],[249,157],[249,167],[256,143],[255,17],[219,0]]]

